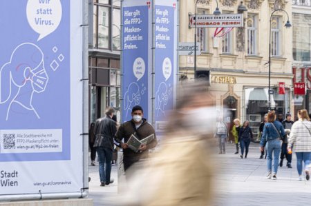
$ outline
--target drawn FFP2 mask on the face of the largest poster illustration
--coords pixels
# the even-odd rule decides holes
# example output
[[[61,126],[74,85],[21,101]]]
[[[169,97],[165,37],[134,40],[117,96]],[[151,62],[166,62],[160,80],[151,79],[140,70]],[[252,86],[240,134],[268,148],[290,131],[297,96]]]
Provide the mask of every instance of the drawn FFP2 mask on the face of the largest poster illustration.
[[[32,70],[31,73],[32,73],[31,78],[32,89],[37,93],[44,92],[44,90],[46,90],[46,84],[48,83],[48,74],[46,74],[46,70],[42,68],[41,70],[36,71],[35,73],[34,70]]]

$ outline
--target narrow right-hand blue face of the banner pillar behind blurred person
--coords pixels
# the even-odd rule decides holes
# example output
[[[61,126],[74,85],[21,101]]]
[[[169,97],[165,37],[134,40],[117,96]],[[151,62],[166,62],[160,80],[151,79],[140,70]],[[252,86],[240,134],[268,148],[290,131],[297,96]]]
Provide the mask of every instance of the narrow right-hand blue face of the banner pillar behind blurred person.
[[[177,2],[155,1],[155,121],[156,132],[164,131],[173,110],[176,84]]]

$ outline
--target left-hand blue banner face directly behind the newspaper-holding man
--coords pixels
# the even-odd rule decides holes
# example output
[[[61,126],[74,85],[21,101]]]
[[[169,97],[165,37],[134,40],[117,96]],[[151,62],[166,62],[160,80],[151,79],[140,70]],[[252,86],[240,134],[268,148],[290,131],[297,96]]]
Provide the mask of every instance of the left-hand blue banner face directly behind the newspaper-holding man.
[[[124,0],[122,10],[122,121],[131,119],[135,105],[142,106],[144,118],[149,113],[149,70],[151,67],[150,1]]]

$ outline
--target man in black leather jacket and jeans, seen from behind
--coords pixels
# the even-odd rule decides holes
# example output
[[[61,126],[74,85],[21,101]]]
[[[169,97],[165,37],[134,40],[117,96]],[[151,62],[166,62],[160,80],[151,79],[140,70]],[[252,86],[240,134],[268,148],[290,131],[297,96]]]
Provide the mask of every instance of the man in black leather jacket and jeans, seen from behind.
[[[115,110],[113,107],[107,107],[105,116],[97,119],[94,127],[95,143],[100,172],[100,186],[104,187],[113,183],[111,176],[111,158],[113,155],[113,137],[117,132],[117,125],[111,118]]]

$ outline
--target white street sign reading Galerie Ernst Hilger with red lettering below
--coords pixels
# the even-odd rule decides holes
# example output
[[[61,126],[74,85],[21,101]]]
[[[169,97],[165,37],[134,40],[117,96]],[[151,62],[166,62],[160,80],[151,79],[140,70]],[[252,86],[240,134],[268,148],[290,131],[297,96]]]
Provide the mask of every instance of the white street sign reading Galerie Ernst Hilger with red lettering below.
[[[243,14],[197,14],[189,15],[189,28],[243,27]]]

